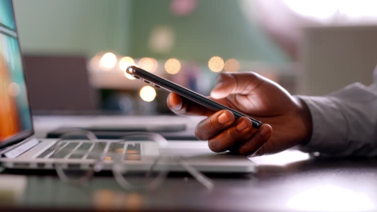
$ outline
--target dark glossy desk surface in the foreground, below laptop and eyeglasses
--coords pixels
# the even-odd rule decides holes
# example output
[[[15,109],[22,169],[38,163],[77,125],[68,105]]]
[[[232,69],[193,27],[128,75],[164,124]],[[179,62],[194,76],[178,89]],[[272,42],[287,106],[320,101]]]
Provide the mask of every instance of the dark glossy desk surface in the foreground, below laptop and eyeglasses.
[[[29,175],[15,206],[84,211],[377,210],[377,159],[305,159],[260,165],[256,174],[209,177],[215,182],[211,192],[190,177],[173,175],[161,189],[135,193],[123,190],[111,174],[83,186],[67,185],[54,174]]]

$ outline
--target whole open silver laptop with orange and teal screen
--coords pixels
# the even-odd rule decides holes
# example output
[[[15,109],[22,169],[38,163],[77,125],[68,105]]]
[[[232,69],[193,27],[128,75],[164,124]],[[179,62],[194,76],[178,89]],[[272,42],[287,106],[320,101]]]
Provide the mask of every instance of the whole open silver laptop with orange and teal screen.
[[[201,141],[169,141],[161,148],[145,140],[132,144],[117,140],[71,140],[61,148],[55,148],[58,139],[37,139],[12,3],[11,0],[0,1],[0,162],[3,166],[10,169],[54,169],[54,163],[58,161],[67,166],[87,167],[96,162],[98,154],[116,148],[121,159],[129,164],[140,164],[145,156],[171,153],[182,156],[201,172],[250,173],[257,170],[256,164],[246,157],[212,153],[206,142]],[[132,150],[132,157],[127,155],[128,150]],[[111,163],[113,161],[109,159],[102,170],[110,170]],[[172,165],[170,171],[184,169]]]

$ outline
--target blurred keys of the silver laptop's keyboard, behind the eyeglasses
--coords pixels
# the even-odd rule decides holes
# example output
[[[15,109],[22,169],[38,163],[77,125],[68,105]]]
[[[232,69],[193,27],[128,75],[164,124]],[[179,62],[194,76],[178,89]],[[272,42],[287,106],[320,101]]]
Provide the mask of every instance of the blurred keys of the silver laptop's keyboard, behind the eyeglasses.
[[[98,159],[103,153],[110,155],[124,155],[125,160],[140,160],[141,145],[139,143],[127,144],[125,150],[124,143],[118,142],[78,142],[67,141],[56,146],[49,147],[37,158],[51,159]],[[111,157],[106,157],[111,160]]]

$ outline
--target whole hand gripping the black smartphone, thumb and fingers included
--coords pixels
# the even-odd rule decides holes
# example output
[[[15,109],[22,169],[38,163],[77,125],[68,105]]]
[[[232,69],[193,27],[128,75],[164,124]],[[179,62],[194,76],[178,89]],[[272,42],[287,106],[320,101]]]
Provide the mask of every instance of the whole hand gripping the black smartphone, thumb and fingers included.
[[[311,136],[311,116],[305,103],[258,74],[223,73],[210,98],[265,123],[256,130],[247,117],[235,120],[229,110],[215,112],[175,93],[170,94],[167,105],[177,115],[208,117],[196,126],[195,135],[208,140],[214,152],[230,150],[246,156],[272,154]]]

